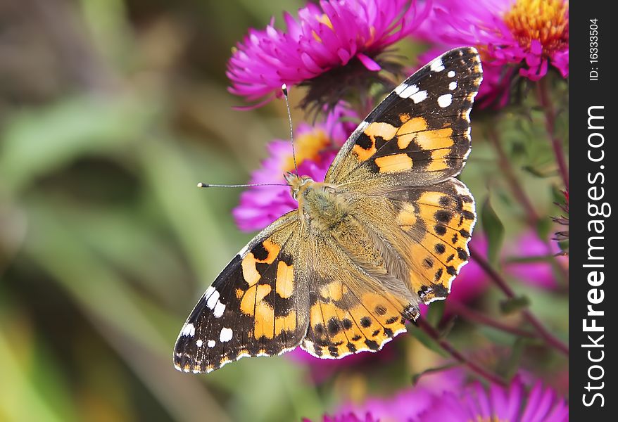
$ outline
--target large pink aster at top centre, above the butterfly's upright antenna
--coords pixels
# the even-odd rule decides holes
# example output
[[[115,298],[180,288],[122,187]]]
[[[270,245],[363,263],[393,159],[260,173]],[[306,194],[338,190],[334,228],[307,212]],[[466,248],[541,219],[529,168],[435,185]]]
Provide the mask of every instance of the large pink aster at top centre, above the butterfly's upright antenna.
[[[309,3],[298,20],[284,13],[286,31],[276,29],[274,20],[265,30],[249,30],[229,59],[229,91],[266,102],[279,95],[283,83],[300,84],[348,66],[376,72],[379,54],[412,33],[427,13],[429,7],[417,13],[410,0]],[[344,87],[343,75],[337,76]]]

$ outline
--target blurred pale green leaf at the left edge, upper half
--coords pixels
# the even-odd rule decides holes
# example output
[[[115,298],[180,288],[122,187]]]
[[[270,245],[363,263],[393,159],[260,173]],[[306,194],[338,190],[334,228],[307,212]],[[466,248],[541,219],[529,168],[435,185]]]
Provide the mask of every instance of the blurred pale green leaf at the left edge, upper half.
[[[0,179],[15,190],[82,155],[113,154],[144,138],[153,106],[81,96],[13,115],[0,132]]]

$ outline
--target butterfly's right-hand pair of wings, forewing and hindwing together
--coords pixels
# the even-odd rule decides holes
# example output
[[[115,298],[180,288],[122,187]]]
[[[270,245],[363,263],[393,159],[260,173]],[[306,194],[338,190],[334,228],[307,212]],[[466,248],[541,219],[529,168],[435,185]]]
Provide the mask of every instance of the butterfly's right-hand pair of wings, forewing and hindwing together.
[[[453,176],[470,151],[481,79],[472,47],[432,60],[367,116],[327,172],[327,183],[365,196],[357,218],[383,239],[390,262],[404,263],[388,271],[413,293],[413,309],[446,298],[468,259],[474,199]]]

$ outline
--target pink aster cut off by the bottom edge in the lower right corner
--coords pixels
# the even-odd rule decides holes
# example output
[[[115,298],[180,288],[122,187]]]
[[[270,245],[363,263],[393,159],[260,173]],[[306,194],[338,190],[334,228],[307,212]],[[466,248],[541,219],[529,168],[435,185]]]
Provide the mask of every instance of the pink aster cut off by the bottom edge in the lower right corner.
[[[401,419],[400,419],[401,420]],[[519,378],[508,388],[491,385],[484,388],[474,383],[462,392],[446,392],[411,422],[445,421],[510,421],[566,422],[569,407],[550,388],[537,382],[529,392]]]

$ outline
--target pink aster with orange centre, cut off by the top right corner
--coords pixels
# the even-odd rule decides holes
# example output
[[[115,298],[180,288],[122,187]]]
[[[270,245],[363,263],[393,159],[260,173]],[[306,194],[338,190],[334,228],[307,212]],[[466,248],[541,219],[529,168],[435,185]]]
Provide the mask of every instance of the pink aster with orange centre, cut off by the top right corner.
[[[569,75],[569,4],[565,0],[436,0],[417,31],[441,48],[474,45],[481,52],[484,82],[479,97],[504,101],[512,73],[533,81],[549,66]],[[505,69],[505,65],[511,65]],[[502,86],[502,90],[497,90]]]

